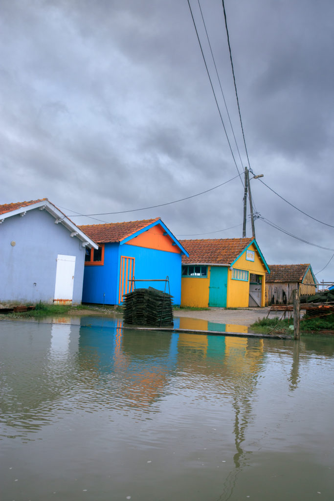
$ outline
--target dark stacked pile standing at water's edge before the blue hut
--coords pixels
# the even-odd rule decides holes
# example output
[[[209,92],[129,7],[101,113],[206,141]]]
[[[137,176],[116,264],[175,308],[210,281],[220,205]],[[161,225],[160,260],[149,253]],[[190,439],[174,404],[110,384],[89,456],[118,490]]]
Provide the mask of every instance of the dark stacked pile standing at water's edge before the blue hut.
[[[136,289],[124,295],[125,324],[161,327],[173,325],[172,296],[153,287]]]

